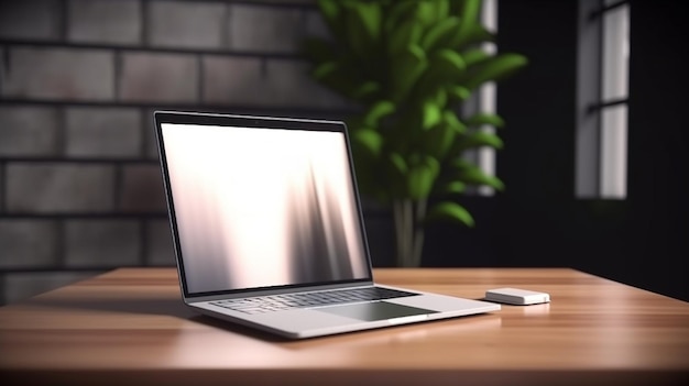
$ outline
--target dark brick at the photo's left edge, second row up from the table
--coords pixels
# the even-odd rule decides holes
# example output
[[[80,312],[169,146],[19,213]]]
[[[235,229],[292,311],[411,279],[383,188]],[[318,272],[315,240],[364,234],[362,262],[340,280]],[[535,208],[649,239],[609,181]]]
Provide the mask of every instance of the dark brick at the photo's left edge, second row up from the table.
[[[0,268],[55,265],[58,236],[54,221],[0,220]]]

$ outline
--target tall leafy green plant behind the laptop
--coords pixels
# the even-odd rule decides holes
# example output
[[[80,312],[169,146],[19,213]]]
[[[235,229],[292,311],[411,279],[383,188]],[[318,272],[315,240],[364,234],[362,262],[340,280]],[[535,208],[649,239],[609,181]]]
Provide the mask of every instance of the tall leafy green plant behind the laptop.
[[[527,60],[481,48],[494,37],[480,23],[481,0],[319,0],[318,8],[331,38],[305,42],[311,75],[361,108],[347,120],[359,187],[392,207],[397,264],[418,266],[426,221],[473,227],[459,195],[470,185],[504,188],[462,157],[502,147],[481,126],[503,120],[458,111],[479,86]]]

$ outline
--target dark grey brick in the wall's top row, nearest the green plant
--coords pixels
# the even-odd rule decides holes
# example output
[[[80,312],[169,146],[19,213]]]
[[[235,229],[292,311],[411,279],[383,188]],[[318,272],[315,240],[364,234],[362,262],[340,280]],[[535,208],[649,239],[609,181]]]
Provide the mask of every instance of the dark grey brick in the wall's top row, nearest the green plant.
[[[299,9],[232,4],[230,48],[251,52],[293,53],[303,38]]]

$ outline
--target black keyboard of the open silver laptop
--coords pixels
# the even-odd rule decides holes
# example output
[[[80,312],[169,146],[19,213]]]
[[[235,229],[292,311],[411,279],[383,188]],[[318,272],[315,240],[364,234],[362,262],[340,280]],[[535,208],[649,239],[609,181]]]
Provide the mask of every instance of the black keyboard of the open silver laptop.
[[[381,287],[367,287],[317,293],[271,295],[242,299],[228,299],[214,301],[211,304],[229,308],[234,311],[254,315],[271,311],[282,311],[292,308],[313,308],[351,302],[393,299],[415,295],[418,294],[405,293],[396,289]]]

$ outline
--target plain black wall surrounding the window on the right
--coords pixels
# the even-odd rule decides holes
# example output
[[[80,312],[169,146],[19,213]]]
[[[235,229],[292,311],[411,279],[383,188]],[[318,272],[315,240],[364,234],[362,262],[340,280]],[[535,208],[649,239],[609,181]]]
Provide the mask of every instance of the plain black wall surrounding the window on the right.
[[[628,198],[611,201],[573,197],[577,1],[500,2],[500,49],[529,58],[497,92],[507,189],[464,198],[477,229],[428,229],[425,265],[570,266],[689,300],[680,5],[632,3]]]

